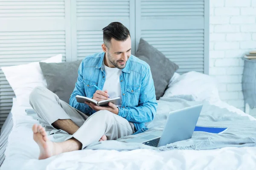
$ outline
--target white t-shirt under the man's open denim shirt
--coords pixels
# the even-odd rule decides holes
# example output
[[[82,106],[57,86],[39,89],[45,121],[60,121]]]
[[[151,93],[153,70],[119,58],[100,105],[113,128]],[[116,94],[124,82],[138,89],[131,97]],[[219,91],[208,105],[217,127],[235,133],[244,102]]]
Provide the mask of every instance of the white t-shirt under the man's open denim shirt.
[[[108,90],[110,98],[121,97],[121,86],[119,77],[121,75],[122,69],[110,68],[104,65],[105,68],[105,83],[103,85],[102,91]]]

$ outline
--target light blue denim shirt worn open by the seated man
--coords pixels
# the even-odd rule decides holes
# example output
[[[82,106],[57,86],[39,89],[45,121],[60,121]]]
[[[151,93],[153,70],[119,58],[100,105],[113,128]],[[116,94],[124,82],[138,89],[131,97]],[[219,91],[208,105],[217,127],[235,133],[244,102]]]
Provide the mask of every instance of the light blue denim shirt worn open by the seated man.
[[[86,104],[77,102],[75,96],[78,94],[92,98],[97,90],[93,85],[103,88],[104,57],[104,52],[87,56],[79,66],[78,79],[70,97],[70,105],[83,113],[92,115],[96,111]],[[148,130],[145,123],[152,121],[157,111],[154,82],[149,65],[131,55],[125,68],[122,69],[119,81],[122,105],[118,107],[118,115],[134,123],[134,134],[145,132]]]

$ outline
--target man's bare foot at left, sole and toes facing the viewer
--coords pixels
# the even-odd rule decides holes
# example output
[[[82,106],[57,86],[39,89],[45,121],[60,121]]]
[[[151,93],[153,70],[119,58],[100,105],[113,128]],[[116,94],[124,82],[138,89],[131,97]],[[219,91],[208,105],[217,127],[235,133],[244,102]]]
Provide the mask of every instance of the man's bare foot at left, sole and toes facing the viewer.
[[[38,144],[40,148],[40,154],[38,159],[47,159],[51,156],[62,153],[61,147],[52,141],[50,141],[47,137],[47,133],[44,130],[44,127],[41,125],[33,125],[33,139]]]

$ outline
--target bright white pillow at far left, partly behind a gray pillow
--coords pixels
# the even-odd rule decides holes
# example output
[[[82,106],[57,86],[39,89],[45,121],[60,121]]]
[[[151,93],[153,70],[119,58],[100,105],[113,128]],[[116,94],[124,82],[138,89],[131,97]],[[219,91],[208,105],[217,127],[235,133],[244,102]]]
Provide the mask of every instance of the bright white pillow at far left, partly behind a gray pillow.
[[[62,62],[62,54],[50,57],[40,62]],[[37,87],[46,87],[39,62],[31,62],[23,65],[1,67],[7,81],[12,87],[19,106],[29,106],[29,94]]]

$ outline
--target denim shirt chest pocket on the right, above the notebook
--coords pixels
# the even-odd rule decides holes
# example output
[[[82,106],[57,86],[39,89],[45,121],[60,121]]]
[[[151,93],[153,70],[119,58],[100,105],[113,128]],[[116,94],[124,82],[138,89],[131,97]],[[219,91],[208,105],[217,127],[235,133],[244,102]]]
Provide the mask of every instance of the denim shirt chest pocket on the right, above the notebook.
[[[138,106],[140,99],[140,85],[127,86],[126,94],[126,106]]]

